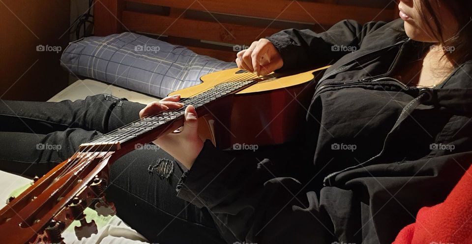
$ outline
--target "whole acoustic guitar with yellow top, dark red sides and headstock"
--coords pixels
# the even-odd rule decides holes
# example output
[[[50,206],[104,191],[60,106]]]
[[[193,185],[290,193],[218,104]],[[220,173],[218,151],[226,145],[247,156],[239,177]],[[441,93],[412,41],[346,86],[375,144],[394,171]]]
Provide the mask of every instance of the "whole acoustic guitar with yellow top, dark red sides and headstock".
[[[0,243],[63,243],[61,233],[74,221],[78,239],[97,233],[87,222],[87,207],[99,215],[115,214],[105,198],[109,168],[137,145],[183,125],[184,108],[193,105],[199,116],[199,135],[219,148],[279,144],[303,133],[302,121],[313,96],[316,79],[327,67],[297,74],[258,77],[238,69],[201,78],[200,85],[180,94],[183,108],[140,119],[89,143],[57,165],[0,210]],[[239,147],[236,147],[239,145]]]

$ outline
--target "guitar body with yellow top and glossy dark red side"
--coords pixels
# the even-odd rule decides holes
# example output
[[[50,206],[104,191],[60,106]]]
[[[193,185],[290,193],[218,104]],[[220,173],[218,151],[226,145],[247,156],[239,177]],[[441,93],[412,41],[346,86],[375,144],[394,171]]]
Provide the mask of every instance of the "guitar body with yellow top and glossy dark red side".
[[[295,140],[304,130],[300,125],[314,93],[316,84],[312,81],[326,68],[257,83],[237,92],[231,101],[207,108],[207,115],[199,120],[200,136],[220,149],[238,147],[238,144],[260,146]],[[247,73],[236,74],[237,71],[239,69],[234,68],[207,74],[201,77],[203,83],[169,95],[192,97],[234,79],[235,75],[247,76]]]

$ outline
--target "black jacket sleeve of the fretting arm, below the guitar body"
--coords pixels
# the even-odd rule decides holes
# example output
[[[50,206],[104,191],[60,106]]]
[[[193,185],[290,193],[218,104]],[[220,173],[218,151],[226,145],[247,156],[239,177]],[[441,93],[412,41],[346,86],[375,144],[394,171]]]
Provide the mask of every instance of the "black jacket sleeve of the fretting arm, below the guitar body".
[[[326,232],[316,194],[303,191],[295,178],[277,177],[293,163],[230,157],[207,140],[177,185],[177,196],[208,208],[226,241],[316,243]]]

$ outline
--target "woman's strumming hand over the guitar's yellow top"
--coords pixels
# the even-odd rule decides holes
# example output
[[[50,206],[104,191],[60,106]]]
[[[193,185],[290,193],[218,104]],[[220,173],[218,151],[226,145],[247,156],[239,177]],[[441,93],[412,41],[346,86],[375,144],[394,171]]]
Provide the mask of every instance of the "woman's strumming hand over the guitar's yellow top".
[[[260,39],[251,46],[237,53],[237,67],[257,75],[267,75],[284,65],[279,51],[267,39]]]

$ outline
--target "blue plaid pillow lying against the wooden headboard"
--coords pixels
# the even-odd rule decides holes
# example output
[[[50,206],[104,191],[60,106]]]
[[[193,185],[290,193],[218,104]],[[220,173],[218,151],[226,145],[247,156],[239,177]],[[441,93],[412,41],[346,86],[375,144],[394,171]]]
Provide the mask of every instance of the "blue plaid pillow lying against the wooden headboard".
[[[72,42],[62,53],[61,65],[77,76],[157,97],[200,84],[205,74],[236,67],[235,62],[131,32]]]

